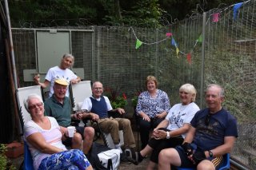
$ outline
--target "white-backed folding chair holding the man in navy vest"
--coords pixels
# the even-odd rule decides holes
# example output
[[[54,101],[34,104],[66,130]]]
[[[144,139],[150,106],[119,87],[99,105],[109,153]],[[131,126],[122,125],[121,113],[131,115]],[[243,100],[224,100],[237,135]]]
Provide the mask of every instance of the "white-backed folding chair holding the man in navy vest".
[[[71,102],[73,105],[74,112],[76,112],[77,110],[80,110],[82,107],[82,102],[86,99],[86,97],[90,97],[91,95],[92,95],[92,91],[91,91],[90,81],[81,81],[77,84],[70,85],[70,97],[71,97]],[[83,120],[84,125],[88,124],[88,121],[89,119]],[[102,132],[102,129],[99,128],[98,122],[96,122],[96,124],[98,127],[98,133],[102,135],[102,140],[104,141],[104,144],[109,148],[114,148],[114,142],[112,140],[112,137],[110,136],[110,133]],[[82,125],[82,123],[80,122],[79,125]],[[124,144],[122,131],[119,131],[119,136],[121,140],[120,144]],[[96,137],[95,140],[97,139],[98,138]]]

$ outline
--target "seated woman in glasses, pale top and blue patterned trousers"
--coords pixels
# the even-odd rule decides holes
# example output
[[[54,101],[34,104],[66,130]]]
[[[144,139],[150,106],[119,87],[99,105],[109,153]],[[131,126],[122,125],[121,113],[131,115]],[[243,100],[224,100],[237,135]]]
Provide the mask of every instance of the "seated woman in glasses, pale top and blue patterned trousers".
[[[41,97],[31,94],[24,101],[24,105],[32,118],[24,125],[24,136],[30,148],[35,170],[93,169],[82,151],[66,150],[62,144],[63,134],[57,121],[54,117],[44,116]]]

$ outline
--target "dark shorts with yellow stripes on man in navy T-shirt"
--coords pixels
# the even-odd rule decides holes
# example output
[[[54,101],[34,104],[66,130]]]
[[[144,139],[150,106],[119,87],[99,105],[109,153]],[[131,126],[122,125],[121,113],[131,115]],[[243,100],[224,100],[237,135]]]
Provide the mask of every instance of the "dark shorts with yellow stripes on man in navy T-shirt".
[[[196,146],[194,145],[194,148]],[[181,146],[177,146],[175,148],[178,152],[179,157],[181,158],[182,161],[182,168],[196,168],[197,165],[193,164],[186,156],[186,153],[184,152],[183,148]],[[213,162],[214,166],[216,169],[220,168],[223,163],[223,156],[218,156],[218,157],[213,157],[213,158],[208,158],[207,160],[210,160]]]

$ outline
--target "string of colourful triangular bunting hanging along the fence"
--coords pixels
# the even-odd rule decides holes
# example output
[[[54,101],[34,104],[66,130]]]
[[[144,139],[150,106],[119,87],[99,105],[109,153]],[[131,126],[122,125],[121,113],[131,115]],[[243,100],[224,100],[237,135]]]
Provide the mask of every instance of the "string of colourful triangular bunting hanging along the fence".
[[[234,7],[233,7],[233,19],[234,19],[234,21],[235,21],[235,20],[237,19],[237,17],[238,17],[238,10],[239,10],[239,8],[240,8],[243,4],[245,4],[245,3],[247,3],[247,2],[250,2],[250,1],[251,1],[251,0],[248,0],[248,1],[246,1],[246,2],[239,2],[239,3],[236,3],[236,4],[232,5],[232,6],[234,6]],[[229,6],[229,7],[232,7],[232,6]],[[229,7],[227,7],[226,9],[228,9]],[[226,9],[225,9],[225,10],[226,10]],[[218,12],[218,13],[215,13],[215,14],[211,14],[210,17],[208,18],[206,24],[209,22],[210,18],[212,18],[212,22],[218,22],[218,21],[219,21],[219,18],[220,18],[220,16],[221,16],[221,13],[222,13],[222,12]],[[199,42],[199,43],[202,43],[202,34],[200,34],[199,37],[198,37],[198,39],[197,39],[196,42],[194,43],[193,48],[190,49],[190,52],[189,52],[189,53],[184,53],[184,52],[182,52],[180,49],[178,49],[178,44],[175,42],[172,33],[166,33],[166,38],[164,38],[164,39],[162,39],[162,40],[160,40],[160,41],[158,41],[158,42],[151,42],[151,43],[148,43],[148,42],[142,42],[142,41],[140,41],[140,40],[137,38],[137,36],[136,36],[136,34],[135,34],[135,32],[134,32],[134,29],[133,29],[132,27],[130,27],[128,31],[130,31],[130,30],[132,30],[132,32],[133,32],[133,34],[134,34],[134,37],[136,38],[135,49],[138,49],[142,44],[144,44],[144,45],[154,45],[154,44],[158,44],[158,43],[160,43],[160,42],[164,42],[164,41],[166,41],[166,40],[168,40],[168,39],[171,38],[171,45],[173,45],[173,46],[175,47],[177,57],[178,57],[178,53],[182,53],[183,55],[186,55],[186,60],[189,62],[189,64],[191,64],[191,57],[192,57],[192,53],[193,53],[193,51],[194,51],[194,48],[196,47],[196,45],[198,44],[198,42]]]

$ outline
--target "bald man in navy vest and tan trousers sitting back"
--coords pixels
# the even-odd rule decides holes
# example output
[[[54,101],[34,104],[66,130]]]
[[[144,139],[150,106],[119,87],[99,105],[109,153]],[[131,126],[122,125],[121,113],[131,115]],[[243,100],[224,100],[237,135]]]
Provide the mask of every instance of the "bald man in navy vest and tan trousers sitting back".
[[[113,118],[108,117],[108,111],[114,110],[120,113],[121,115],[125,113],[124,109],[118,108],[113,109],[110,105],[110,100],[106,96],[102,96],[103,93],[103,85],[99,81],[95,81],[92,87],[93,95],[91,97],[87,97],[85,101],[83,101],[82,109],[87,110],[90,114],[90,117],[94,121],[98,121],[98,125],[102,128],[103,132],[110,133],[115,148],[120,148],[120,139],[119,139],[119,130],[123,131],[124,134],[124,144],[126,148],[130,148],[134,150],[135,148],[135,140],[134,134],[130,127],[130,121],[125,118]]]

